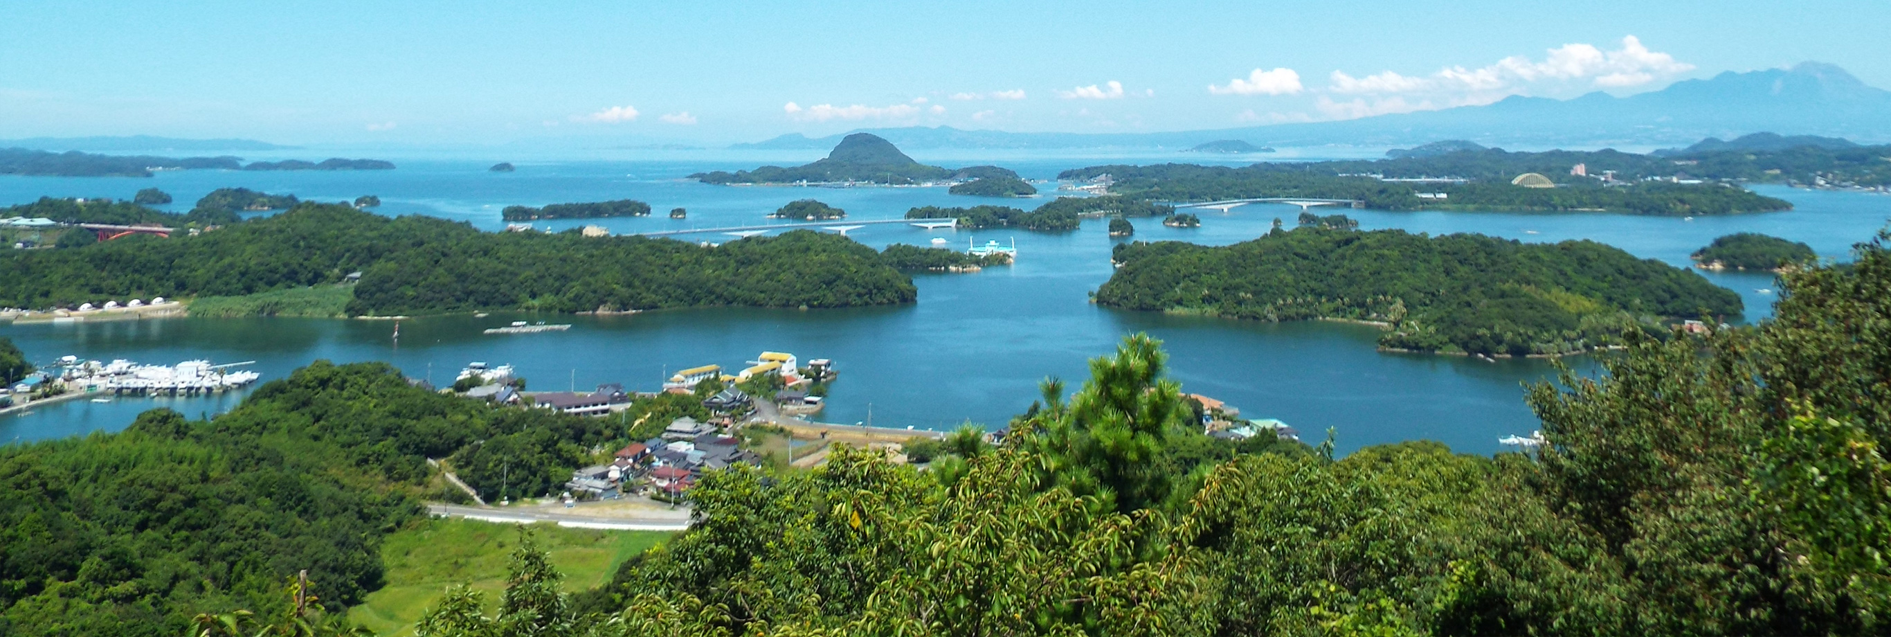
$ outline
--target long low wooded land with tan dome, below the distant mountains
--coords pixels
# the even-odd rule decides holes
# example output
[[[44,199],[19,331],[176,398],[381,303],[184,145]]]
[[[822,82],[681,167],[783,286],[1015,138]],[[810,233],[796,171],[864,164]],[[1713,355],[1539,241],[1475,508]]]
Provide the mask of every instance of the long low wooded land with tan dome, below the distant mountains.
[[[1494,151],[1501,153],[1501,151]],[[1554,151],[1564,153],[1564,151]],[[1535,153],[1535,155],[1554,155]],[[1613,151],[1605,151],[1613,153]],[[1520,153],[1522,155],[1522,153]],[[1596,153],[1564,153],[1596,155]],[[1615,153],[1626,155],[1626,153]],[[1626,155],[1641,157],[1641,155]],[[1464,159],[1462,163],[1450,159]],[[1562,159],[1554,159],[1562,161]],[[1554,163],[1545,159],[1545,163]],[[1481,178],[1467,183],[1399,183],[1382,181],[1367,172],[1384,170],[1386,178],[1403,178],[1396,166],[1411,168],[1409,176],[1439,176],[1426,170],[1481,170]],[[1604,185],[1598,180],[1570,178],[1554,189],[1532,189],[1511,185],[1517,172],[1507,172],[1522,164],[1511,161],[1484,161],[1479,153],[1449,153],[1426,159],[1384,159],[1352,163],[1263,163],[1242,168],[1195,166],[1195,164],[1155,164],[1155,166],[1089,166],[1065,170],[1059,180],[1093,180],[1110,176],[1112,193],[1146,200],[1225,200],[1256,197],[1309,197],[1309,198],[1350,198],[1365,208],[1377,210],[1541,210],[1541,212],[1628,212],[1651,215],[1711,215],[1738,212],[1776,212],[1791,210],[1793,204],[1774,197],[1755,195],[1747,189],[1723,183],[1664,183],[1634,181],[1622,185]],[[1541,168],[1549,170],[1549,168]],[[1570,164],[1560,172],[1568,174]],[[1535,172],[1535,170],[1524,170]],[[1600,168],[1590,168],[1598,174]],[[1443,172],[1449,174],[1449,172]],[[1501,178],[1501,180],[1500,180]],[[1490,181],[1481,181],[1490,180]],[[1560,178],[1558,178],[1560,180]],[[1445,198],[1420,198],[1420,193],[1443,193]]]

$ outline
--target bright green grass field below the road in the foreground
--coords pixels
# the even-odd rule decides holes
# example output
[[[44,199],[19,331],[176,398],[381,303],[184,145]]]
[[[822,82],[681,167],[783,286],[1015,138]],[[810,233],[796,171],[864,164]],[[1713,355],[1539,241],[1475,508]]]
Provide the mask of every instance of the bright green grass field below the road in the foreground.
[[[668,531],[592,531],[535,524],[539,548],[546,550],[565,590],[581,592],[603,584],[616,565],[671,533]],[[412,635],[420,614],[454,584],[473,584],[486,594],[488,609],[499,607],[505,590],[507,558],[518,548],[518,527],[473,520],[425,520],[388,537],[380,560],[388,567],[388,586],[348,609],[352,624],[376,635]]]

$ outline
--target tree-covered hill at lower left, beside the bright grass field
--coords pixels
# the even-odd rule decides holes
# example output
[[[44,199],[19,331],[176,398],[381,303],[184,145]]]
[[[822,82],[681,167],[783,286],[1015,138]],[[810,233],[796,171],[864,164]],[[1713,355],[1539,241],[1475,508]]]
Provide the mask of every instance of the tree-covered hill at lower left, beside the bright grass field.
[[[159,408],[117,435],[0,446],[0,633],[168,637],[197,612],[280,616],[301,569],[340,611],[382,584],[380,539],[422,516],[429,457],[495,497],[501,471],[512,495],[539,495],[584,448],[620,442],[611,429],[318,361],[212,422]]]

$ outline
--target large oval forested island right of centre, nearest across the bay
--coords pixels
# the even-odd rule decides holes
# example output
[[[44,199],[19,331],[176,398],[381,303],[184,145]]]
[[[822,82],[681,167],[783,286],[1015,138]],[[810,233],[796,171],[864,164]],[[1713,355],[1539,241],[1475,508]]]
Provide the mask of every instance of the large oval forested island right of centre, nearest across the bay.
[[[1205,248],[1121,244],[1097,302],[1240,319],[1386,327],[1386,350],[1560,355],[1617,346],[1662,321],[1738,316],[1700,274],[1596,242],[1329,231],[1318,225]]]

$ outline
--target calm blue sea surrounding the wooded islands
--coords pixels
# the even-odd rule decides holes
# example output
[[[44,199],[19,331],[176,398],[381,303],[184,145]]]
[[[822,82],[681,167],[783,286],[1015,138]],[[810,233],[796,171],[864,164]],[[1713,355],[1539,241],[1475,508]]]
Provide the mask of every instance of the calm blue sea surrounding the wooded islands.
[[[325,159],[318,151],[272,155]],[[318,157],[320,155],[320,157]],[[946,189],[819,189],[819,187],[717,187],[685,180],[700,170],[751,168],[762,163],[798,164],[817,151],[598,151],[582,161],[520,161],[497,153],[431,153],[390,157],[356,151],[348,157],[391,159],[397,170],[382,172],[163,172],[138,178],[17,178],[0,176],[0,204],[38,197],[129,198],[142,187],[161,187],[176,197],[170,208],[185,210],[216,187],[242,185],[269,193],[293,193],[314,200],[378,195],[378,212],[425,214],[497,231],[499,210],[509,204],[639,198],[656,208],[651,217],[556,221],[541,227],[603,225],[615,232],[658,229],[730,227],[768,223],[768,212],[794,198],[821,198],[847,210],[849,219],[894,219],[911,206],[968,206]],[[802,157],[807,155],[807,157]],[[997,163],[1027,178],[1048,180],[1059,170],[1104,163],[1205,163],[1199,155],[1042,157],[1025,153],[913,153],[925,163],[963,166]],[[1318,153],[1290,153],[1318,157]],[[276,157],[250,157],[276,159]],[[512,161],[518,170],[486,168]],[[1246,159],[1254,161],[1254,159]],[[1223,161],[1229,164],[1244,161]],[[1053,185],[1048,185],[1050,189]],[[1501,214],[1501,212],[1375,212],[1346,210],[1362,229],[1413,232],[1483,232],[1526,242],[1588,238],[1639,257],[1687,265],[1687,255],[1728,232],[1753,231],[1812,244],[1823,257],[1848,259],[1851,246],[1868,240],[1891,217],[1891,197],[1830,191],[1759,187],[1793,200],[1796,210],[1779,214],[1696,217],[1638,217],[1615,214]],[[1040,200],[1010,202],[1036,206]],[[669,219],[669,208],[686,208],[688,219]],[[1265,232],[1275,217],[1299,214],[1295,206],[1242,206],[1227,214],[1203,214],[1201,229],[1165,229],[1138,219],[1135,240],[1186,240],[1233,244]],[[1522,384],[1553,372],[1537,359],[1486,363],[1447,355],[1380,353],[1375,329],[1343,323],[1254,323],[1180,318],[1099,308],[1087,301],[1110,276],[1110,246],[1102,221],[1082,231],[1046,232],[949,232],[908,225],[870,225],[853,238],[881,248],[891,242],[927,246],[946,238],[1017,242],[1017,265],[976,274],[919,274],[919,302],[893,308],[851,310],[755,310],[702,308],[635,316],[439,316],[401,321],[401,340],[386,321],[350,319],[149,319],[78,325],[8,325],[36,361],[59,355],[85,359],[132,359],[178,363],[257,361],[263,378],[282,378],[316,359],[390,361],[410,376],[450,382],[469,361],[511,363],[531,389],[588,389],[603,382],[656,389],[666,370],[719,363],[739,367],[762,350],[794,352],[804,359],[828,357],[841,376],[832,387],[824,422],[866,422],[881,427],[957,427],[963,422],[1002,425],[1023,412],[1046,376],[1080,382],[1085,361],[1108,353],[1125,333],[1146,331],[1165,342],[1171,376],[1184,391],[1205,393],[1235,405],[1248,418],[1280,418],[1320,439],[1327,427],[1341,452],[1365,444],[1430,439],[1462,452],[1496,452],[1498,439],[1537,427],[1522,405]],[[690,234],[688,240],[722,242],[734,236]],[[1706,274],[1738,291],[1747,319],[1761,319],[1774,301],[1768,274]],[[482,335],[512,319],[573,323],[565,333]],[[1587,357],[1568,359],[1592,370]],[[229,410],[240,395],[197,399],[70,401],[26,414],[0,416],[0,442],[36,440],[115,431],[140,410],[178,408],[189,416]]]

